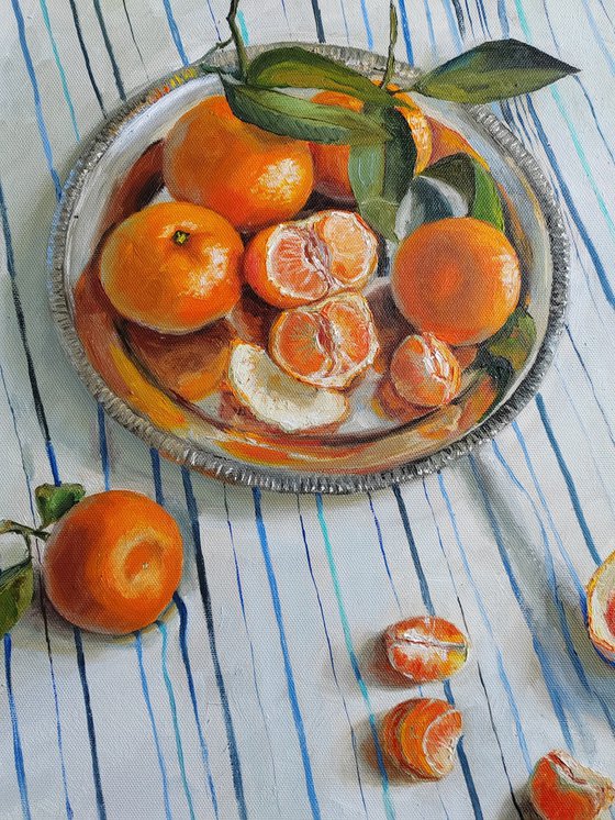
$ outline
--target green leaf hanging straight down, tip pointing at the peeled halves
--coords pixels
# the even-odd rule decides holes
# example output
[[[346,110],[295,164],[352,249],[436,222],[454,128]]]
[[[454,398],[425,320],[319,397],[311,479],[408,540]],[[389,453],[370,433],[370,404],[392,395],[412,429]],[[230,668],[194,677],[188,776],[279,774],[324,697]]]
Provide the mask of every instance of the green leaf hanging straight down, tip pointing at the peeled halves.
[[[414,175],[416,147],[412,131],[395,109],[370,111],[390,138],[376,145],[353,146],[348,176],[359,213],[374,231],[396,242],[395,220]]]

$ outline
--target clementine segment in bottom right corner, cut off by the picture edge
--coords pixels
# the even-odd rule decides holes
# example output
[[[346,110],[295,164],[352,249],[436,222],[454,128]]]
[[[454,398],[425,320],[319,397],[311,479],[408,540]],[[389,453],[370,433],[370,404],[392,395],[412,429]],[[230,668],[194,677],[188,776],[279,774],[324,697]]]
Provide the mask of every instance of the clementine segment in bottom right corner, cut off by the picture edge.
[[[543,820],[596,820],[614,798],[607,777],[558,750],[540,757],[529,779],[529,799]]]

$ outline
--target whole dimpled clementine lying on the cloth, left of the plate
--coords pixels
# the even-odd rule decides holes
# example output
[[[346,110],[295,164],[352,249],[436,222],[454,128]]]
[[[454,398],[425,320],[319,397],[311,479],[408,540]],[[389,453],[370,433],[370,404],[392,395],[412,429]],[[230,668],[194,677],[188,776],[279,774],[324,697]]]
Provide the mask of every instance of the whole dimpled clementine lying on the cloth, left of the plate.
[[[54,527],[43,558],[54,608],[81,629],[126,634],[170,603],[182,567],[181,533],[146,496],[88,496]]]

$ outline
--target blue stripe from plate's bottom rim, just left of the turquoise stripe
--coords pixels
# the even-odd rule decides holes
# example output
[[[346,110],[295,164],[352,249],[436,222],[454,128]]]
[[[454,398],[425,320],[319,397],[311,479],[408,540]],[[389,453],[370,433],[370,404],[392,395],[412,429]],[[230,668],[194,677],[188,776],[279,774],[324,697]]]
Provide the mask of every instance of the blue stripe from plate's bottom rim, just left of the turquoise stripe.
[[[299,749],[301,752],[301,760],[303,763],[305,788],[308,791],[308,798],[310,800],[310,807],[312,809],[312,816],[316,819],[321,817],[321,809],[318,806],[318,798],[316,797],[314,777],[312,774],[312,764],[310,763],[310,753],[308,752],[308,741],[305,740],[305,728],[303,725],[303,718],[301,717],[301,709],[299,708],[299,700],[297,697],[297,687],[294,684],[294,675],[292,674],[292,666],[290,663],[290,654],[288,651],[287,635],[286,635],[284,623],[282,619],[282,607],[280,603],[280,594],[278,591],[278,581],[276,580],[276,574],[273,572],[273,564],[271,563],[271,555],[269,553],[269,543],[267,541],[267,532],[265,530],[265,523],[262,521],[262,511],[260,508],[260,490],[256,487],[253,489],[253,498],[254,498],[254,512],[256,517],[256,529],[258,531],[258,539],[260,541],[260,550],[262,552],[265,568],[267,570],[267,580],[269,581],[269,590],[271,592],[271,602],[273,605],[276,622],[278,624],[278,634],[280,639],[280,649],[282,651],[282,658],[284,663],[284,674],[287,678],[287,688],[288,688],[288,694],[289,694],[290,707],[292,711],[292,719],[294,721],[294,729],[297,732],[297,738],[299,740]]]

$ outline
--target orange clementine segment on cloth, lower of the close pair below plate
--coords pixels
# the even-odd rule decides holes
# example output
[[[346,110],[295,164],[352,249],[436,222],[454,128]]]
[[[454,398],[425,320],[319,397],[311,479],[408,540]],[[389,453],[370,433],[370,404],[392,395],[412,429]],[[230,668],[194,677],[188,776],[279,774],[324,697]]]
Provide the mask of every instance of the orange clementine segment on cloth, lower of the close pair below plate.
[[[416,698],[399,703],[384,716],[381,740],[402,772],[439,779],[452,771],[461,731],[461,712],[446,700]]]

